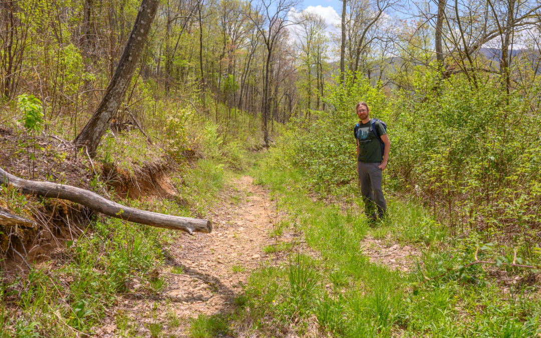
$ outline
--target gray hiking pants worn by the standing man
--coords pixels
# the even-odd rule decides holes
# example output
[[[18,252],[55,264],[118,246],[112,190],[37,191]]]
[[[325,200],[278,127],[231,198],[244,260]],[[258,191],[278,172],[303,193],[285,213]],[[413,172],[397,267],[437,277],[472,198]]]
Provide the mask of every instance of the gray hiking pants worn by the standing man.
[[[383,217],[387,210],[385,197],[381,190],[381,169],[378,162],[357,162],[357,173],[361,182],[362,200],[365,202],[365,213],[369,218]],[[378,213],[375,213],[375,209]]]

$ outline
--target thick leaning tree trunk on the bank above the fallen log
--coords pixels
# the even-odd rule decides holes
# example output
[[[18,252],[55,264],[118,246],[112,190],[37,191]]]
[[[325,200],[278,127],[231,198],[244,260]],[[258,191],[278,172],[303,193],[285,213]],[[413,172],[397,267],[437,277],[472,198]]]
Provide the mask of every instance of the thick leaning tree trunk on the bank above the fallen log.
[[[75,143],[78,146],[88,147],[92,156],[96,155],[98,144],[124,99],[158,4],[159,0],[141,0],[135,24],[107,91],[90,121],[75,138]]]

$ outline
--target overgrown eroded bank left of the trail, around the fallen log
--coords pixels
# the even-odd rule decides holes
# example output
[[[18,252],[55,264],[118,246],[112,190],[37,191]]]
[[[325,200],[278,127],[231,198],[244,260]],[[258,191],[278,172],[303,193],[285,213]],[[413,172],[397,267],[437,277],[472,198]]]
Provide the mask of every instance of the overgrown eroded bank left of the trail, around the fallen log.
[[[48,139],[40,136],[35,155],[27,162],[26,154],[17,151],[21,146],[6,141],[4,154],[12,157],[10,165],[4,168],[24,174],[33,165],[36,177],[57,178],[111,199],[121,198],[130,207],[206,217],[217,194],[227,184],[228,173],[246,168],[249,147],[261,143],[257,141],[258,134],[248,127],[253,118],[239,112],[239,123],[241,118],[243,128],[229,142],[217,135],[218,125],[201,116],[184,119],[171,127],[171,134],[158,134],[160,129],[148,128],[147,132],[156,132],[162,142],[147,143],[146,147],[140,146],[146,142],[146,136],[136,130],[108,135],[94,160],[84,152],[64,149],[62,143],[43,147],[41,144]],[[8,137],[18,137],[17,126],[11,128]],[[237,128],[233,121],[230,128]],[[42,167],[38,163],[49,165]],[[69,168],[70,164],[76,165],[77,170]],[[164,177],[164,172],[170,176],[168,184],[174,189],[174,195],[162,191],[169,194],[168,198],[160,195],[155,185],[160,182],[150,183],[153,177],[156,181]],[[148,188],[148,184],[153,185]],[[152,198],[146,193],[153,194]],[[188,237],[178,231],[110,217],[87,215],[91,223],[84,217],[81,221],[81,213],[87,211],[75,203],[32,197],[5,186],[0,207],[39,221],[36,228],[3,226],[0,233],[5,268],[0,273],[2,337],[93,334],[105,317],[112,315],[118,335],[136,336],[140,330],[137,323],[121,312],[111,313],[108,308],[118,302],[119,296],[137,292],[153,297],[166,288],[167,279],[159,271],[169,255],[167,247]],[[47,246],[51,252],[32,255],[47,241],[54,244]],[[27,256],[28,261],[18,260],[15,253],[21,258]],[[48,260],[43,261],[43,257]],[[161,335],[163,324],[156,320],[152,324],[147,328],[149,332]]]

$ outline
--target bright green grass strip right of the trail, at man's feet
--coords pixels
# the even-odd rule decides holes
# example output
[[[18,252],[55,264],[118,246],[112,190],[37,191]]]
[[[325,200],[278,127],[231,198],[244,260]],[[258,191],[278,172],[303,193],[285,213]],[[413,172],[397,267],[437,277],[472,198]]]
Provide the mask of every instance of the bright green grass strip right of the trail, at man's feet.
[[[477,238],[452,239],[418,204],[388,198],[391,217],[370,227],[357,204],[341,210],[307,198],[300,170],[256,167],[256,182],[279,196],[280,210],[302,231],[317,257],[294,255],[250,275],[245,320],[260,332],[291,328],[302,336],[308,327],[332,336],[523,337],[540,332],[541,307],[535,294],[506,294],[486,269],[473,261]],[[360,242],[370,235],[388,244],[423,250],[419,265],[403,273],[370,262]],[[271,249],[269,249],[271,250]],[[487,253],[488,254],[488,253]],[[427,281],[428,278],[442,277]],[[272,335],[271,334],[271,335]],[[277,334],[275,334],[277,335]]]

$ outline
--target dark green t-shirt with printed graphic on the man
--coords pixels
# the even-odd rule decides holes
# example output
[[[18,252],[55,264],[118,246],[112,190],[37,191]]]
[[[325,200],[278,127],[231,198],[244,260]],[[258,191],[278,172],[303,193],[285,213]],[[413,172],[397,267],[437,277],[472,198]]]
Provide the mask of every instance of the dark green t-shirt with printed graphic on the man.
[[[375,128],[377,128],[379,135],[387,134],[387,131],[381,125],[376,122]],[[381,155],[381,143],[378,136],[372,131],[371,123],[357,123],[353,128],[353,134],[355,136],[355,142],[359,142],[359,162],[381,162],[383,157]]]

